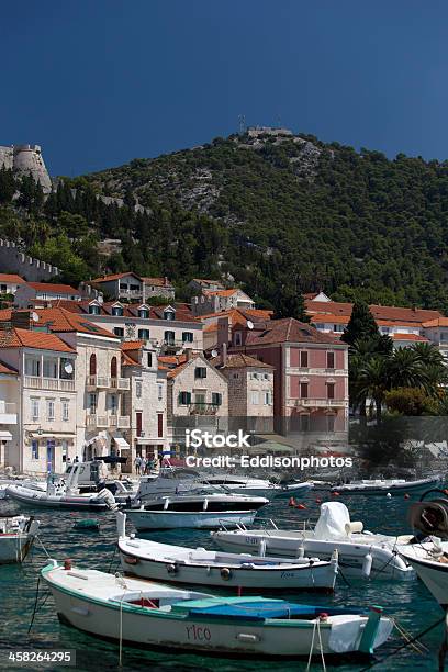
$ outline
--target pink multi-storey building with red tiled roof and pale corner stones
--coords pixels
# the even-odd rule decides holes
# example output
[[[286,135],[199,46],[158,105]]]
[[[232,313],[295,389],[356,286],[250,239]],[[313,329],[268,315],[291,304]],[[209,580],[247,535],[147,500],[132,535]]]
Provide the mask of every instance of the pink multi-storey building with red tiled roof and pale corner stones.
[[[296,430],[347,430],[346,344],[292,317],[237,324],[232,332],[232,351],[275,367],[275,416],[290,418],[289,427]]]

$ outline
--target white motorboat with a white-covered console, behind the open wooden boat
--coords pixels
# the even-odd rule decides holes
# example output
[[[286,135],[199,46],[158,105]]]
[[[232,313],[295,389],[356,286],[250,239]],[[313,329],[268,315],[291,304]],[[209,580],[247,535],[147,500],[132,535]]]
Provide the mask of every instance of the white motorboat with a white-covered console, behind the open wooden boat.
[[[212,533],[214,541],[232,552],[265,552],[272,556],[295,558],[300,553],[328,560],[334,550],[339,555],[339,568],[345,576],[372,579],[415,579],[412,567],[397,553],[400,544],[407,544],[412,535],[392,537],[362,531],[360,522],[351,522],[341,502],[321,505],[321,516],[314,529],[278,529],[270,527],[247,529],[238,525],[236,530],[221,529]],[[250,550],[251,549],[251,550]]]

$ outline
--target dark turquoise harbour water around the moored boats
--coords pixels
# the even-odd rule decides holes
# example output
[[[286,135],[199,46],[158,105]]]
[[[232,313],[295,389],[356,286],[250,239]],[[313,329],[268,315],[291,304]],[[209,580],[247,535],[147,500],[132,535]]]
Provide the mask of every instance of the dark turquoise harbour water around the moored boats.
[[[316,517],[318,504],[316,496],[326,500],[325,493],[309,494],[303,497],[307,505],[306,511],[291,509],[288,501],[280,500],[264,509],[265,517],[271,517],[279,526],[294,527],[306,517]],[[328,497],[329,499],[329,497]],[[406,509],[410,501],[402,497],[366,497],[356,495],[344,497],[350,509],[351,519],[363,520],[365,527],[374,531],[389,534],[406,533]],[[21,509],[18,504],[1,501],[0,514],[16,514]],[[116,556],[114,557],[115,519],[110,513],[87,514],[70,512],[52,512],[43,508],[27,509],[41,520],[40,538],[51,557],[64,560],[71,558],[77,564],[85,568],[94,568],[103,571],[119,569]],[[96,517],[100,520],[99,533],[87,533],[72,529],[76,520],[81,517]],[[131,526],[130,526],[131,529]],[[158,531],[152,538],[178,545],[203,546],[212,548],[208,531],[178,529]],[[5,653],[10,648],[34,649],[75,649],[77,651],[77,670],[114,670],[119,665],[119,650],[113,643],[103,642],[89,635],[79,632],[59,624],[53,608],[53,600],[48,597],[44,606],[36,614],[31,635],[27,628],[31,621],[38,570],[45,564],[46,555],[36,541],[32,557],[22,565],[0,567],[0,669],[12,669],[5,662]],[[208,592],[204,589],[204,592]],[[210,591],[209,591],[210,592]],[[338,580],[333,596],[313,593],[299,593],[288,595],[295,602],[309,604],[351,604],[368,605],[380,604],[385,613],[393,616],[412,635],[416,635],[425,627],[438,620],[443,613],[419,582],[385,582],[385,581],[354,581],[345,584]],[[44,598],[44,592],[42,592]],[[437,652],[443,637],[443,626],[429,632],[422,641],[428,648],[424,654],[418,654],[412,648],[378,662],[373,671],[408,671],[413,667],[419,670],[437,670]],[[392,639],[377,650],[374,659],[354,660],[345,659],[327,665],[327,670],[339,672],[360,671],[373,661],[381,661],[393,652],[403,640],[395,632]],[[1,659],[3,656],[3,659]],[[281,672],[296,672],[305,670],[303,661],[262,661],[262,659],[234,660],[217,659],[183,653],[159,653],[142,651],[139,649],[124,648],[123,670],[156,670],[168,672],[182,671],[212,671],[219,665],[220,672],[251,672],[255,670],[271,670]],[[26,669],[26,668],[13,668]],[[30,669],[30,668],[27,668]],[[48,668],[47,668],[48,669]],[[54,670],[68,670],[69,668],[52,668]],[[312,664],[311,670],[322,670],[318,661]]]

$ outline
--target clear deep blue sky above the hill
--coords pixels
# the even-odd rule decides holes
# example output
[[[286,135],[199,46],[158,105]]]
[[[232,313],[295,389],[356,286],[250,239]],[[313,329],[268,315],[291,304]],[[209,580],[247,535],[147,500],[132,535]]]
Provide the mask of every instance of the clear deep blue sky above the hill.
[[[448,158],[448,4],[433,0],[18,0],[1,8],[0,144],[52,175],[248,124]]]

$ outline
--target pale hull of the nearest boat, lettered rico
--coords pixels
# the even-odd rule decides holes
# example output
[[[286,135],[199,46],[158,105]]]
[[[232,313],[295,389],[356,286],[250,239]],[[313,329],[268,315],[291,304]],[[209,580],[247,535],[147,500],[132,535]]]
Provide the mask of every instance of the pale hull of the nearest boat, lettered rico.
[[[316,634],[318,621],[323,653],[346,653],[359,650],[368,621],[367,617],[340,615],[331,616],[325,621],[261,619],[261,623],[254,623],[244,618],[191,615],[188,611],[171,613],[125,603],[120,600],[120,594],[123,595],[125,589],[119,584],[115,598],[94,598],[80,594],[80,587],[60,587],[52,581],[51,574],[51,571],[43,570],[43,578],[49,585],[59,619],[94,636],[147,648],[277,658],[306,657],[311,649],[315,654],[321,653]],[[88,591],[88,581],[81,583]],[[144,592],[147,584],[141,583]],[[153,586],[157,587],[157,584]],[[138,596],[142,591],[135,595]],[[376,647],[385,641],[392,627],[389,619],[380,619],[374,637]]]

